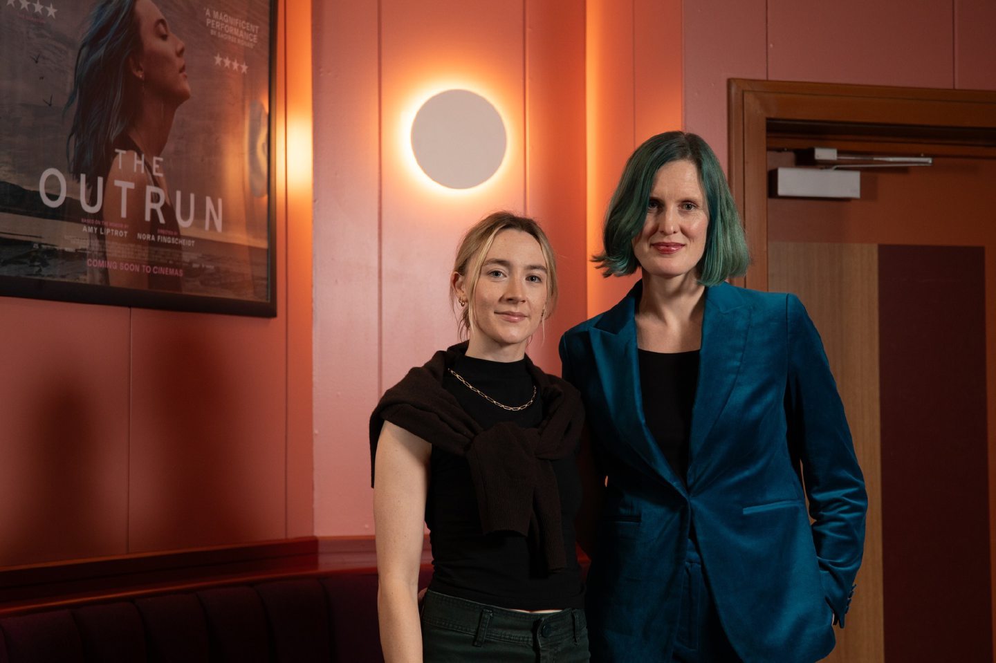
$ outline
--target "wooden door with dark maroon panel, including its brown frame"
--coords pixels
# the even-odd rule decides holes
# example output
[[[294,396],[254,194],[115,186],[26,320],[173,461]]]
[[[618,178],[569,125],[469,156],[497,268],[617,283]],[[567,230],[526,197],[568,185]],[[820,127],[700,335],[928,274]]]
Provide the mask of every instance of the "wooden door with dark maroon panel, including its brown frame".
[[[732,81],[730,99],[746,285],[807,306],[868,484],[828,660],[992,660],[996,95]],[[858,200],[770,197],[768,172],[813,146],[934,164],[867,170]]]

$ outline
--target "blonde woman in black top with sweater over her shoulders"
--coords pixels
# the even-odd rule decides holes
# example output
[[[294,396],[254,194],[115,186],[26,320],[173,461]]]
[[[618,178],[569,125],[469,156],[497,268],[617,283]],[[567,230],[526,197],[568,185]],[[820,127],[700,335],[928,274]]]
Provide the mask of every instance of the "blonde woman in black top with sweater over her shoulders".
[[[450,296],[467,340],[412,368],[371,419],[384,658],[588,661],[573,525],[584,413],[526,356],[557,301],[543,230],[508,212],[477,223]],[[433,575],[419,614],[423,524]]]

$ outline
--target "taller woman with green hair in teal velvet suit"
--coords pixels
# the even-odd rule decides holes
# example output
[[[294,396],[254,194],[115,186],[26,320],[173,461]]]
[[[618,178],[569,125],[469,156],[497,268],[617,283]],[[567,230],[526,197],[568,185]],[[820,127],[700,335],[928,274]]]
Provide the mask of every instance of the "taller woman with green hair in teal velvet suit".
[[[819,334],[795,296],[725,283],[746,271],[746,242],[693,133],[636,148],[604,240],[605,276],[642,279],[560,346],[599,514],[578,530],[592,660],[825,657],[868,499]]]

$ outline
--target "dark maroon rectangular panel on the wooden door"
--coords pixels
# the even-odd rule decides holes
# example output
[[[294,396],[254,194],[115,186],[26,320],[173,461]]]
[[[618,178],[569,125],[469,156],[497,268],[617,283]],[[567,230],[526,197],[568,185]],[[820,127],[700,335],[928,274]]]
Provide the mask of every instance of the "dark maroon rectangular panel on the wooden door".
[[[882,246],[878,265],[885,649],[989,661],[983,249]]]

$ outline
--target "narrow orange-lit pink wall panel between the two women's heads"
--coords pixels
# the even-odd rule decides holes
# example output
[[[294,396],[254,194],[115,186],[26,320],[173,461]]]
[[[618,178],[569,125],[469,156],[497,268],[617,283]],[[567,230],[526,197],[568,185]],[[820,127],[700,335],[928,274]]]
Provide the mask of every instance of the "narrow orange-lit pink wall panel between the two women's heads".
[[[526,2],[526,211],[557,253],[560,303],[529,346],[560,374],[561,334],[587,316],[585,219],[585,3]]]

